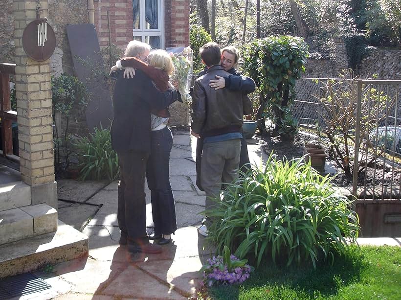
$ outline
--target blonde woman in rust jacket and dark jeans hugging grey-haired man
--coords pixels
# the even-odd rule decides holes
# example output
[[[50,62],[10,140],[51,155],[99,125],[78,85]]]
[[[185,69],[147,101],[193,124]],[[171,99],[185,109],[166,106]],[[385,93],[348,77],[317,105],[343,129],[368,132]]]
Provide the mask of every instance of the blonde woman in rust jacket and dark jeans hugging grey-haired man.
[[[160,91],[171,87],[168,76],[173,74],[174,66],[170,55],[164,50],[152,51],[148,55],[147,63],[149,65],[136,58],[124,58],[120,62],[126,68],[124,73],[127,77],[134,76],[133,68],[141,69],[154,80],[155,86]],[[163,71],[165,76],[161,76],[163,74],[157,72],[158,70]],[[176,209],[169,177],[170,152],[173,147],[173,136],[167,126],[169,116],[168,109],[152,111],[151,153],[146,165],[146,178],[151,190],[152,217],[155,224],[155,233],[149,236],[149,239],[157,240],[159,245],[170,243],[171,234],[177,230]]]

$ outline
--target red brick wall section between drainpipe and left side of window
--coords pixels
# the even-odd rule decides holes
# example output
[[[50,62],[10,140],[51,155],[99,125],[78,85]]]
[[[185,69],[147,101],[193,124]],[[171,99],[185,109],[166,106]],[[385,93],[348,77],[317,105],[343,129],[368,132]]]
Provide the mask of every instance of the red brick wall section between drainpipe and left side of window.
[[[125,46],[133,39],[132,0],[99,0],[95,5],[95,27],[100,46],[109,45],[109,25],[107,12],[110,12],[111,43]]]

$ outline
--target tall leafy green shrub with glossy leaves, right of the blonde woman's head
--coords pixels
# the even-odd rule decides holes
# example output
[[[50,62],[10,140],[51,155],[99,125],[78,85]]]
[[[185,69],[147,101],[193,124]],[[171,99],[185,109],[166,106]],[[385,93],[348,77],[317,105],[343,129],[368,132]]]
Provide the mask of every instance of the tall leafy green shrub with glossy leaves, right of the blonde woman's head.
[[[307,44],[293,36],[254,40],[245,50],[244,69],[255,80],[260,92],[257,118],[270,117],[277,132],[284,137],[293,135],[296,130],[291,107],[295,83],[305,72],[308,56]],[[265,122],[259,123],[259,129],[266,132]]]

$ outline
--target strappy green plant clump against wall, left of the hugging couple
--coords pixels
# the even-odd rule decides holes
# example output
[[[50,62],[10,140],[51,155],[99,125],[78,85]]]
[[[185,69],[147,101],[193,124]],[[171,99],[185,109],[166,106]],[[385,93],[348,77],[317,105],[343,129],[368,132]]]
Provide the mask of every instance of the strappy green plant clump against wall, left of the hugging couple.
[[[78,167],[83,180],[115,180],[119,176],[117,153],[111,147],[109,129],[94,128],[89,138],[76,143]]]

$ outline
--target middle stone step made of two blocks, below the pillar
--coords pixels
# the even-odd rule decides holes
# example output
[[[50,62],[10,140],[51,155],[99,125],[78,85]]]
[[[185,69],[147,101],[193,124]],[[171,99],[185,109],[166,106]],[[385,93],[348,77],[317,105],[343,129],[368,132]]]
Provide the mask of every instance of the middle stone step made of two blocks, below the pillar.
[[[0,245],[57,230],[57,210],[47,204],[0,211]]]

